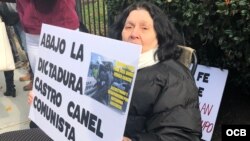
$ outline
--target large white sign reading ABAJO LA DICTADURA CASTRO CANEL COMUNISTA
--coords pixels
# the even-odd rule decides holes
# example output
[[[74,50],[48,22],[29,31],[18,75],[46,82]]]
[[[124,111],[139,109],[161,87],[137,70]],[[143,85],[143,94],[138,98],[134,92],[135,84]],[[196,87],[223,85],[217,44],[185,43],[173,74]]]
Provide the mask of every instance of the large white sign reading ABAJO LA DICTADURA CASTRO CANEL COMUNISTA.
[[[120,141],[141,46],[43,24],[29,118],[53,140]]]

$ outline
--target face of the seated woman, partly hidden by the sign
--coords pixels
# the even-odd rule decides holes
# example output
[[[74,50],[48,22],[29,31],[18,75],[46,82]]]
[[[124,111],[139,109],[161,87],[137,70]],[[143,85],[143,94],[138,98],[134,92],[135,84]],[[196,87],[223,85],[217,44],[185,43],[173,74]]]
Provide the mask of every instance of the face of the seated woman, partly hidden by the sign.
[[[142,45],[142,53],[158,47],[153,19],[145,9],[130,12],[122,30],[122,40]]]

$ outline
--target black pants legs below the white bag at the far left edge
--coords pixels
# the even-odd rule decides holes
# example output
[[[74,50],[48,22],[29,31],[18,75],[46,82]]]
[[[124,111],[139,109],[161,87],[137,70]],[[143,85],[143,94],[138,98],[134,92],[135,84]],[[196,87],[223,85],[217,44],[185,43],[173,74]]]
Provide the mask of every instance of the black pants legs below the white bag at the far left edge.
[[[16,91],[14,84],[14,70],[4,71],[6,91],[13,92]]]

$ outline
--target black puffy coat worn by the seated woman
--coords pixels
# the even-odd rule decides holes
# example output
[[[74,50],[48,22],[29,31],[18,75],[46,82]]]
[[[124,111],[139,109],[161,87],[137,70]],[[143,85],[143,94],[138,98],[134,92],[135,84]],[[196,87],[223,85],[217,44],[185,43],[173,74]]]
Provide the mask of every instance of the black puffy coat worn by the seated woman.
[[[198,89],[174,60],[138,70],[124,136],[133,141],[197,141],[201,137]]]

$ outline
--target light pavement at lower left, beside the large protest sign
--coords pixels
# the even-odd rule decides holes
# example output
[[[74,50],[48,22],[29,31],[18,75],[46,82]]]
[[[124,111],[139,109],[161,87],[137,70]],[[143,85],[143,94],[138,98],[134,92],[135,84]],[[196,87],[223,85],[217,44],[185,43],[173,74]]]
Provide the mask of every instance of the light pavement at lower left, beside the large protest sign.
[[[28,84],[29,81],[19,81],[19,77],[26,73],[27,70],[25,68],[16,69],[14,72],[14,83],[16,85],[17,94],[14,98],[3,95],[6,91],[5,77],[4,73],[0,71],[0,134],[29,128],[28,92],[23,91],[23,86]]]

